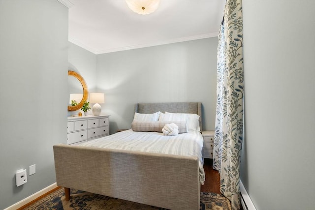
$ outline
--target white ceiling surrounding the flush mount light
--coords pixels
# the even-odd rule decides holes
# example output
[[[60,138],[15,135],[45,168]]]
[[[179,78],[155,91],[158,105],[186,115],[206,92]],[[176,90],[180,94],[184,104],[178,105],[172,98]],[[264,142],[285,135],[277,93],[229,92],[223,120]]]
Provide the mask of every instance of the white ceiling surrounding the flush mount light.
[[[70,0],[69,41],[109,53],[218,35],[225,0],[161,0],[139,15],[125,0]]]

